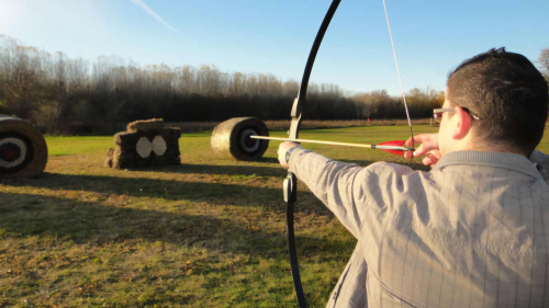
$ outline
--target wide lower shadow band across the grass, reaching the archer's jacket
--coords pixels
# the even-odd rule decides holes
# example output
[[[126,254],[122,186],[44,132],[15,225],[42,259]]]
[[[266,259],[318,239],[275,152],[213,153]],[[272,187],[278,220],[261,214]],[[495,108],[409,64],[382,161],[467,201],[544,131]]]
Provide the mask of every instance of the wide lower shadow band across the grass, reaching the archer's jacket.
[[[269,258],[285,258],[287,253],[285,233],[280,231],[284,219],[274,223],[281,228],[271,226],[269,230],[262,230],[251,223],[235,221],[240,217],[237,213],[189,215],[181,213],[184,208],[169,213],[3,192],[0,192],[0,238],[37,236],[76,243],[91,241],[99,246],[145,240]],[[323,261],[340,261],[340,252],[352,249],[354,244],[352,240],[347,242],[330,237],[298,233],[296,238],[300,254],[323,252]]]

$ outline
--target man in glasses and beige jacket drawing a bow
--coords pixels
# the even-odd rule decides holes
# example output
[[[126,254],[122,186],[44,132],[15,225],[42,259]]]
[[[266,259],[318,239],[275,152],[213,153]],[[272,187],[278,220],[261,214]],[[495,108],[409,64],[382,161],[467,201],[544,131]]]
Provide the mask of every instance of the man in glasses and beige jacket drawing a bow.
[[[414,138],[432,172],[280,145],[358,240],[327,307],[549,307],[547,82],[501,48],[463,61],[446,93],[439,133]]]

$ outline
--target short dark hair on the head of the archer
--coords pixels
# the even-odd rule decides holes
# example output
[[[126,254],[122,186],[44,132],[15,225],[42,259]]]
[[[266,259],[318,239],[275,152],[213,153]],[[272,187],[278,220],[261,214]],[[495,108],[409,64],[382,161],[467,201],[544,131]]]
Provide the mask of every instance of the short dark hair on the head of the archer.
[[[523,55],[490,49],[461,62],[448,76],[451,105],[468,107],[475,136],[529,156],[544,136],[548,85]]]

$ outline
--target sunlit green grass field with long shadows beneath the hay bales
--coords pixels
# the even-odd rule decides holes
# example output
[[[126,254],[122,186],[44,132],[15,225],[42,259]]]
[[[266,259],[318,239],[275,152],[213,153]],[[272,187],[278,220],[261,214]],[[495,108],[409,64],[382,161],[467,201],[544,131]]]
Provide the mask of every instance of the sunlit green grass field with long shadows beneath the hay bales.
[[[415,134],[436,129],[416,126]],[[138,171],[102,167],[112,137],[47,138],[42,178],[0,182],[0,307],[296,307],[279,142],[261,161],[239,162],[213,156],[209,137],[183,134],[181,166]],[[405,139],[407,128],[300,137],[376,144]],[[382,151],[304,146],[360,166],[404,162]],[[539,149],[549,152],[549,134]],[[307,301],[324,307],[356,240],[303,184],[296,212]]]

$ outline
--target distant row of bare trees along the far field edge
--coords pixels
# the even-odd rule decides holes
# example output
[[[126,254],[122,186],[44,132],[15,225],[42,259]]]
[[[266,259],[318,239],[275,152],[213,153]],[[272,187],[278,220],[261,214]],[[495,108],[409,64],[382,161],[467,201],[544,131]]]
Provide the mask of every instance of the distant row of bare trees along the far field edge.
[[[220,122],[235,116],[287,119],[298,80],[268,73],[224,72],[215,66],[139,67],[117,56],[94,61],[24,46],[0,35],[0,114],[29,119],[44,132],[105,130],[110,124],[163,117]],[[411,116],[429,117],[444,92],[413,89]],[[385,90],[351,93],[311,83],[309,119],[403,118],[402,98]]]

